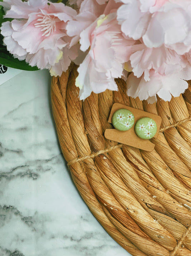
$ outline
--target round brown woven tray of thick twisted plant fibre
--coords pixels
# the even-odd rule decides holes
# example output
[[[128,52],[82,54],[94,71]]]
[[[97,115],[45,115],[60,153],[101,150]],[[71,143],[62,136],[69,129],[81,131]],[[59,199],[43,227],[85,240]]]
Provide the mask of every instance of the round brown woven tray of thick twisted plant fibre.
[[[80,101],[77,67],[53,77],[59,142],[72,178],[105,230],[134,256],[191,256],[191,86],[170,102],[129,98],[119,91]],[[104,138],[113,103],[162,117],[152,152]]]

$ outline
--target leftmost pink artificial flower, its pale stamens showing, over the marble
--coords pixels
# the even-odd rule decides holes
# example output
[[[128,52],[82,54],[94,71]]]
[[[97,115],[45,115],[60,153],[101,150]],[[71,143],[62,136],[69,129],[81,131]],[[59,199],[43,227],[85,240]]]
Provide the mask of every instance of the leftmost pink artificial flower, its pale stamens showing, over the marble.
[[[5,17],[15,18],[1,27],[4,44],[10,53],[40,69],[51,69],[63,58],[66,64],[62,65],[62,71],[66,71],[71,57],[77,57],[71,54],[71,39],[66,34],[67,22],[76,16],[76,11],[48,0],[4,0],[4,3],[10,8]],[[62,73],[55,68],[54,71],[53,75]]]

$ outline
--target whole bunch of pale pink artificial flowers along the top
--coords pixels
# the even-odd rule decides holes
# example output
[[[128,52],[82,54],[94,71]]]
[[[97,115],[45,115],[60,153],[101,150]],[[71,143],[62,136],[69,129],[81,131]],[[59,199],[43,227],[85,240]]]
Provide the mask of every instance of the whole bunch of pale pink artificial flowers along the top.
[[[118,90],[153,103],[179,96],[191,79],[190,0],[70,0],[77,11],[48,0],[4,0],[1,31],[10,53],[61,75],[80,64],[80,99]],[[127,71],[132,73],[127,76]]]

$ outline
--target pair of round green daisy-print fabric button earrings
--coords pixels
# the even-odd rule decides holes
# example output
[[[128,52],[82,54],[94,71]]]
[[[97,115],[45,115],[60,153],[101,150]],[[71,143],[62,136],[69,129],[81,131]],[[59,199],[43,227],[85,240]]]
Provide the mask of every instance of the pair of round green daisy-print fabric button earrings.
[[[112,116],[112,123],[115,129],[128,131],[134,125],[134,115],[128,109],[118,109]],[[157,124],[152,118],[140,118],[135,123],[135,133],[141,139],[151,139],[157,133]]]

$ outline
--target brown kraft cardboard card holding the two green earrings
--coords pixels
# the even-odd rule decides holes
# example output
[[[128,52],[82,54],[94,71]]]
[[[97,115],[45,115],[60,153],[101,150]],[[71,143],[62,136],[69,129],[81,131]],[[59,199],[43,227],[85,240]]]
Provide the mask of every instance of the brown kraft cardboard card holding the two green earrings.
[[[149,140],[139,138],[137,136],[137,134],[135,133],[135,129],[134,129],[135,123],[142,117],[152,118],[157,124],[157,133],[154,136],[156,138],[158,135],[159,129],[161,127],[162,118],[155,114],[151,114],[151,113],[148,113],[145,111],[131,108],[126,105],[122,105],[120,103],[114,103],[113,107],[111,108],[111,113],[110,113],[109,120],[108,120],[109,123],[112,123],[112,116],[115,113],[115,111],[117,111],[118,109],[121,109],[121,108],[128,109],[129,111],[131,111],[133,113],[134,118],[135,118],[134,125],[128,131],[118,131],[116,129],[106,129],[105,134],[104,134],[105,138],[109,139],[109,140],[114,140],[119,143],[123,143],[128,146],[143,149],[145,151],[149,151],[149,152],[153,151],[154,144],[151,143]]]

